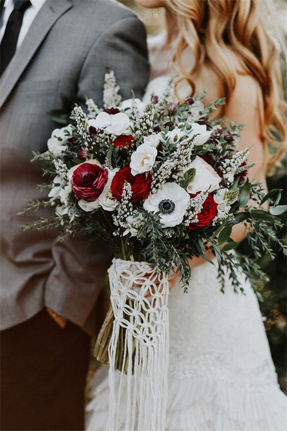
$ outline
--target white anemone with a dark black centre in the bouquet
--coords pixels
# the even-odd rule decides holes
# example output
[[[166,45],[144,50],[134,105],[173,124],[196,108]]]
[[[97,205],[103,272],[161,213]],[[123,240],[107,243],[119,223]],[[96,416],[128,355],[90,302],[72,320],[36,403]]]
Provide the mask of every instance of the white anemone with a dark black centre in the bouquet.
[[[173,227],[183,221],[190,195],[176,183],[165,183],[161,190],[144,201],[148,213],[160,212],[163,227]]]

